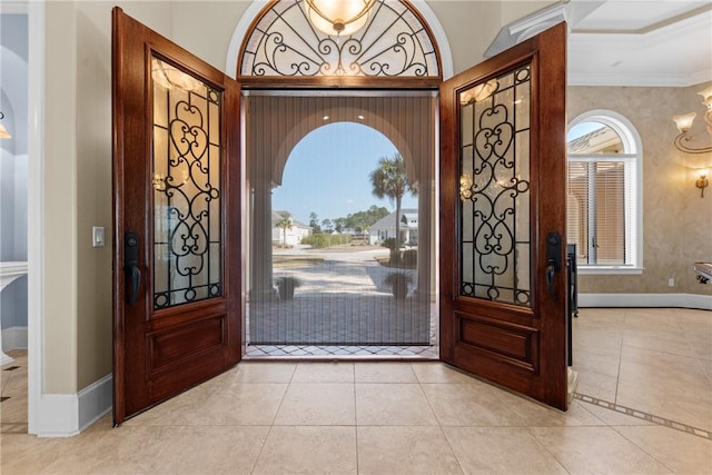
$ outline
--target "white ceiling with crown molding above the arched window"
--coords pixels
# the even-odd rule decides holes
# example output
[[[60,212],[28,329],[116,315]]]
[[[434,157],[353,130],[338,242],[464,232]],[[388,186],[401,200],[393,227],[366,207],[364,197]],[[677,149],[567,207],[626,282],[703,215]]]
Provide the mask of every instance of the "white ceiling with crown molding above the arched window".
[[[572,86],[712,81],[710,0],[571,0],[566,20]]]

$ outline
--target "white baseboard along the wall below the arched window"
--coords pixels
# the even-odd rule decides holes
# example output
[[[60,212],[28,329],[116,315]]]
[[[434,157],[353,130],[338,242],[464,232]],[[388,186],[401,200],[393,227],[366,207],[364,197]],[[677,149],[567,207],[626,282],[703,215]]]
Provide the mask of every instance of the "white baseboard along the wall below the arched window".
[[[578,294],[578,307],[671,307],[712,310],[712,296],[698,294]]]

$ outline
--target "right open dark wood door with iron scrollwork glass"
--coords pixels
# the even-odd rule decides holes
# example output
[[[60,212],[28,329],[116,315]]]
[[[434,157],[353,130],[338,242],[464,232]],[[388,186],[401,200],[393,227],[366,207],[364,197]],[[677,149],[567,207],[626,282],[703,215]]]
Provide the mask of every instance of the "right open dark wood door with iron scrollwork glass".
[[[566,409],[566,26],[441,86],[441,359]]]

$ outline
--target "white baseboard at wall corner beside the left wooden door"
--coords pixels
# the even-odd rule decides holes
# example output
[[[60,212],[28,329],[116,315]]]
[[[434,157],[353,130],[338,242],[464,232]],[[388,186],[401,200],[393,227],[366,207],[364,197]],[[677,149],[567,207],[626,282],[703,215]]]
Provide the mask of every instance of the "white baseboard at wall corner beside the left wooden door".
[[[71,437],[112,407],[112,377],[107,375],[77,394],[46,394],[39,399],[38,437]]]

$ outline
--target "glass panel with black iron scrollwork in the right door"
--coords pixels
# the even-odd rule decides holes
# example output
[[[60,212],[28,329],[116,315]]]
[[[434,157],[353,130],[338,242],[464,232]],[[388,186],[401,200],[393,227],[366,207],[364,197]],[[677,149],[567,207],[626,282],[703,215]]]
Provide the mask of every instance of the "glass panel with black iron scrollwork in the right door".
[[[474,85],[459,103],[461,295],[530,306],[530,66]]]

